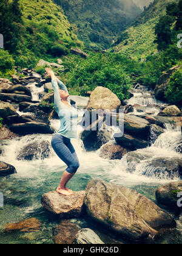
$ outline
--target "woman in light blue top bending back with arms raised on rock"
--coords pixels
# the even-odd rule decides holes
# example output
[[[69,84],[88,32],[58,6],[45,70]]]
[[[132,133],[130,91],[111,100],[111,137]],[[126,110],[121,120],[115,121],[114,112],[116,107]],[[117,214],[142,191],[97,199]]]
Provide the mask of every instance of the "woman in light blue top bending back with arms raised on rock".
[[[50,76],[52,79],[54,104],[60,119],[60,127],[55,135],[53,135],[51,144],[58,157],[68,166],[62,174],[61,182],[56,192],[64,194],[64,196],[70,196],[73,194],[73,191],[69,190],[66,185],[79,168],[79,160],[70,141],[71,138],[77,137],[78,112],[70,105],[70,95],[66,85],[56,78],[52,69],[45,68],[45,71],[47,76]],[[58,85],[61,90],[59,90]]]

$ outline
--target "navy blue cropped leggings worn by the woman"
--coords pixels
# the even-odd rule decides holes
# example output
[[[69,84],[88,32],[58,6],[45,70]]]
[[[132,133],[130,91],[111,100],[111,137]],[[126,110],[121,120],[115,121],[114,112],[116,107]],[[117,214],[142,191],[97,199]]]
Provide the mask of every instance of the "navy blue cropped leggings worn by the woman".
[[[79,160],[70,139],[55,133],[51,144],[58,157],[68,166],[66,171],[75,173],[79,168]]]

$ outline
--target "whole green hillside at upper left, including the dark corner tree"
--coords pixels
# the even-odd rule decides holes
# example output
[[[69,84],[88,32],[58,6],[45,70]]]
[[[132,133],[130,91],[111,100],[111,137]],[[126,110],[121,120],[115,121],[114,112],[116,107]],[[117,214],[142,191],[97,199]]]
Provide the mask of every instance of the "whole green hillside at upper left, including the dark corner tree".
[[[0,24],[5,50],[23,68],[34,68],[43,55],[60,57],[72,46],[83,46],[52,0],[1,0]]]

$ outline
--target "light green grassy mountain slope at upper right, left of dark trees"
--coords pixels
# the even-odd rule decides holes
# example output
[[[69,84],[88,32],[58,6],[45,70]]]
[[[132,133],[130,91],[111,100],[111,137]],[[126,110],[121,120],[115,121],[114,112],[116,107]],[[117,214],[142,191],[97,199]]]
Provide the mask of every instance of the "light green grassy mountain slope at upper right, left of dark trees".
[[[124,37],[121,35],[118,44],[116,41],[109,51],[121,52],[132,59],[145,59],[147,55],[156,52],[157,44],[153,43],[155,24],[158,23],[161,15],[165,15],[166,5],[171,2],[171,0],[155,0],[125,31]]]

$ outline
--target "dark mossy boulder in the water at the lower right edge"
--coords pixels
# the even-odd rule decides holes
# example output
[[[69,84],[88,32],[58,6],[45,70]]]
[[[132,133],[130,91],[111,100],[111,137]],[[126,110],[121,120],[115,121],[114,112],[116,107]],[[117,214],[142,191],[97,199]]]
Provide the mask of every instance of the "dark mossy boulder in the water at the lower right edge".
[[[163,187],[160,187],[155,192],[157,202],[167,208],[174,208],[174,210],[179,210],[177,205],[178,193],[182,192],[182,181],[170,182]],[[182,208],[180,208],[182,210]]]

